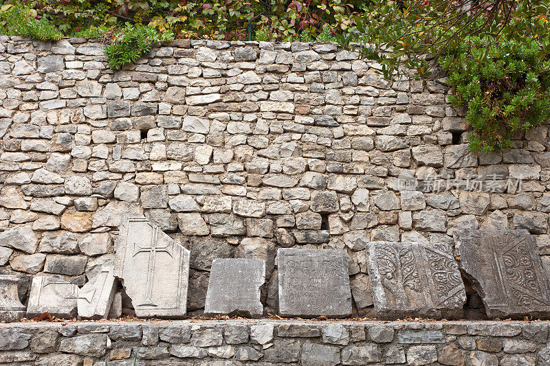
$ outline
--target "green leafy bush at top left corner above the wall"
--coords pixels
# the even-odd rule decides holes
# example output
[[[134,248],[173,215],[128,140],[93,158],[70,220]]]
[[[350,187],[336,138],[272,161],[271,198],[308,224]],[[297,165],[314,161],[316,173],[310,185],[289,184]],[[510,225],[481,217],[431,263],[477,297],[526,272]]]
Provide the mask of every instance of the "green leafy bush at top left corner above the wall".
[[[63,34],[47,19],[36,19],[36,11],[22,6],[9,6],[0,12],[0,34],[24,36],[41,41],[57,41]],[[4,9],[6,9],[4,8]]]

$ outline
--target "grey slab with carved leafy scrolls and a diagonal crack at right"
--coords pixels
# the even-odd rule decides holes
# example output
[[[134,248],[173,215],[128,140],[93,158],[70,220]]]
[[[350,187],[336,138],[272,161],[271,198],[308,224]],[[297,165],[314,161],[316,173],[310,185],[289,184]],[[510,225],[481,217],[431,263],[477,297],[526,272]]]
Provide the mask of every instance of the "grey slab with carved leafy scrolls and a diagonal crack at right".
[[[369,242],[367,268],[379,319],[463,315],[466,293],[448,244]]]

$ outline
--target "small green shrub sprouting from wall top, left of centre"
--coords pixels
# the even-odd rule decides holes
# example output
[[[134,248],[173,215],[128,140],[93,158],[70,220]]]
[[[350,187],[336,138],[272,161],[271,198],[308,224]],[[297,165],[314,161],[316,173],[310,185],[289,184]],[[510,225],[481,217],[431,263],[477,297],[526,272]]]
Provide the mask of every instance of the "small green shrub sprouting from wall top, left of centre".
[[[126,27],[115,34],[111,44],[105,47],[109,67],[118,70],[139,60],[155,43],[172,41],[173,38],[171,32],[159,32],[152,25],[134,27],[126,23]]]

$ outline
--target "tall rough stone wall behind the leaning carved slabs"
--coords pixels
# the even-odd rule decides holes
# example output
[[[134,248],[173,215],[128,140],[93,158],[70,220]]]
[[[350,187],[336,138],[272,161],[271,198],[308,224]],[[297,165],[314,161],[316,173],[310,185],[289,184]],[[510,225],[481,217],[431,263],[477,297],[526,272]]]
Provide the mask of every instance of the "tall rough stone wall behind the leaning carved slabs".
[[[547,126],[473,154],[441,80],[327,43],[178,40],[121,71],[102,47],[0,37],[0,266],[23,301],[31,275],[111,262],[128,213],[191,249],[191,314],[212,258],[267,260],[275,312],[279,247],[347,249],[358,310],[369,240],[525,228],[550,253]]]

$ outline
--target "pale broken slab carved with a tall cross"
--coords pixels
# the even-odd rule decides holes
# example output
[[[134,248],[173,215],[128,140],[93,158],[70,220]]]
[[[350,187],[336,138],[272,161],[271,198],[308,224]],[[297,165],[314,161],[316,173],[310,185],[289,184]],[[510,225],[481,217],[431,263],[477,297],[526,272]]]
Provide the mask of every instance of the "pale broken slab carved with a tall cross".
[[[185,317],[187,249],[146,218],[126,218],[115,250],[115,276],[122,279],[137,317]]]

